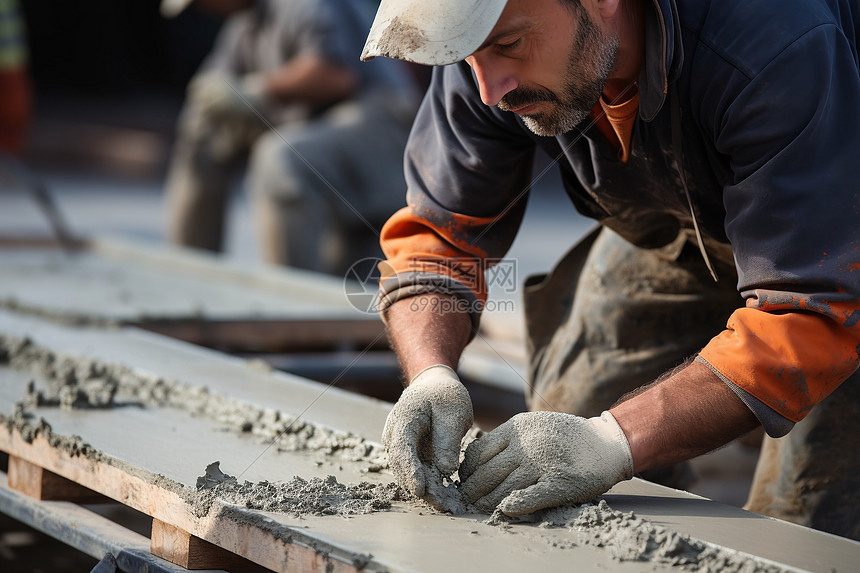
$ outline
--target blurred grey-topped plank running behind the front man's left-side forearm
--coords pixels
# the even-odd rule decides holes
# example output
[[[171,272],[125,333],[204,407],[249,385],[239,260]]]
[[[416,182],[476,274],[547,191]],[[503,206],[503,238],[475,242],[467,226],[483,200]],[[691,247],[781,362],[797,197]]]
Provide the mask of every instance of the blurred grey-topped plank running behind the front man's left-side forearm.
[[[346,296],[373,285],[297,269],[101,237],[74,257],[0,249],[0,276],[0,304],[67,321],[136,325],[231,353],[388,348],[376,313],[353,308]],[[519,312],[486,312],[463,354],[463,375],[521,391],[521,323]]]

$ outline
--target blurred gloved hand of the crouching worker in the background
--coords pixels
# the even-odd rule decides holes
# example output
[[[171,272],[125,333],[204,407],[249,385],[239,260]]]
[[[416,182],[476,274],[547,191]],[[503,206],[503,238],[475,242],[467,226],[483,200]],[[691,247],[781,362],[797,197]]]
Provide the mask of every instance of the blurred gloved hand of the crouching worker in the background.
[[[204,72],[189,82],[187,96],[201,114],[253,117],[266,104],[265,81],[260,74],[236,77]]]

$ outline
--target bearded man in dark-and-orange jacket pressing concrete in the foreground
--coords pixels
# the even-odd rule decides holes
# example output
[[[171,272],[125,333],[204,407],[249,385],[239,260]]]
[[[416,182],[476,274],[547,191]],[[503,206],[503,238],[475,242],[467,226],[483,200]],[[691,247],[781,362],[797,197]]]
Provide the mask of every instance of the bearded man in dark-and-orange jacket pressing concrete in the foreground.
[[[747,507],[860,539],[857,30],[857,0],[383,0],[363,59],[438,66],[382,232],[398,481],[459,469],[516,516],[762,425]],[[536,148],[600,226],[526,287],[533,411],[459,465],[454,369]]]

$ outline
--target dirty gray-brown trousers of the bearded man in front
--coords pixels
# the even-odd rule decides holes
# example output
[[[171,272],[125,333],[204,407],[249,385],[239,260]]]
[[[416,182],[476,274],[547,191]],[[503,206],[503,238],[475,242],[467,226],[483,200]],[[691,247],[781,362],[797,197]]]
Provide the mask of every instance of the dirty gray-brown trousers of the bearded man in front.
[[[639,249],[592,232],[525,290],[532,410],[599,415],[694,355],[743,303],[695,247]],[[860,373],[785,437],[766,437],[746,508],[860,539]],[[643,475],[684,487],[679,468]]]

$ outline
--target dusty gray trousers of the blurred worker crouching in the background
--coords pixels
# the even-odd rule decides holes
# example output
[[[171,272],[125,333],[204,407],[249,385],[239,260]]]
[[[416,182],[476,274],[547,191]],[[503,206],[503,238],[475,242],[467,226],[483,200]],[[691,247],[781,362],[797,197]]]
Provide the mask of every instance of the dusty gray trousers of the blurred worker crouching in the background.
[[[167,236],[220,251],[230,190],[247,164],[263,259],[343,273],[379,253],[379,228],[405,204],[412,103],[384,94],[268,129],[257,117],[207,117],[189,102],[166,184]]]

